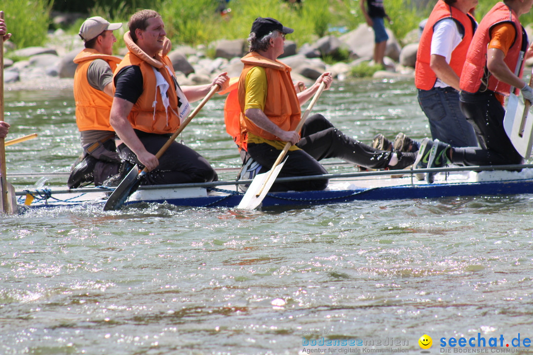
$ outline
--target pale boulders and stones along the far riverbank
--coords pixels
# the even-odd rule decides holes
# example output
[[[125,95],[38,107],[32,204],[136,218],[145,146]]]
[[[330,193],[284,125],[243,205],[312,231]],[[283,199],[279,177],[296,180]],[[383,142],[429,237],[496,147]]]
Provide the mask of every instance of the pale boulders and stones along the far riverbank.
[[[124,28],[124,27],[123,27]],[[414,59],[418,47],[418,31],[410,37],[413,40],[406,46],[391,31],[387,42],[386,71],[375,74],[378,77],[413,76]],[[119,43],[122,33],[117,31]],[[405,42],[405,41],[404,41]],[[246,39],[220,40],[209,45],[214,48],[215,59],[209,59],[206,46],[196,48],[174,46],[169,54],[174,64],[178,80],[182,85],[206,84],[211,82],[217,73],[227,71],[230,76],[238,76],[243,64],[240,62],[248,44]],[[369,61],[374,47],[374,33],[366,24],[341,36],[327,36],[312,44],[304,44],[297,48],[294,42],[286,41],[285,54],[281,59],[293,68],[293,78],[306,83],[313,82],[320,73],[330,71],[337,80],[350,76],[350,70],[362,61]],[[83,42],[77,35],[67,35],[62,30],[49,34],[44,47],[14,48],[10,42],[5,43],[4,81],[6,90],[54,89],[72,87],[72,78],[76,65],[74,56],[83,48]],[[119,55],[125,54],[125,47]],[[326,64],[320,59],[324,56],[335,56],[343,51],[349,53],[351,62]],[[10,57],[17,59],[9,59]]]

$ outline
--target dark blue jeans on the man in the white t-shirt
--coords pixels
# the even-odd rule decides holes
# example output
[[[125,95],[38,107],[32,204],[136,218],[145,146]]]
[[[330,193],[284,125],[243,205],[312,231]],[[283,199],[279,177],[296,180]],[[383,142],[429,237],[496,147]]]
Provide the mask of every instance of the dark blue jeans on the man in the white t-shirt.
[[[431,137],[453,147],[477,147],[472,125],[459,106],[459,92],[452,87],[418,89],[418,104],[430,122]]]

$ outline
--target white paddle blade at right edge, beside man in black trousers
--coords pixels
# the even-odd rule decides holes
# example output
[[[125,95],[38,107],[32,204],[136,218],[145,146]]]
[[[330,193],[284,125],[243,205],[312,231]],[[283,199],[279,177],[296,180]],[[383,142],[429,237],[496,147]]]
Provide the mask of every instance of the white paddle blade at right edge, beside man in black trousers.
[[[522,100],[513,94],[509,96],[508,100],[504,118],[505,133],[511,139],[516,151],[523,158],[528,159],[531,156],[531,146],[533,145],[533,115],[528,111],[525,122],[522,122],[526,106]],[[509,129],[508,126],[511,128]]]

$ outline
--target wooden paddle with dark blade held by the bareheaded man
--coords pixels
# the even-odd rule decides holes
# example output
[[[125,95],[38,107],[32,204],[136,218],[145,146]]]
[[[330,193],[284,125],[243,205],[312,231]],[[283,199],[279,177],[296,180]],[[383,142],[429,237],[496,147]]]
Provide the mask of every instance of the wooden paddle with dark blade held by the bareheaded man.
[[[174,139],[176,139],[177,136],[180,135],[180,133],[183,131],[183,129],[189,124],[189,122],[195,118],[195,116],[198,114],[198,112],[201,110],[201,108],[204,107],[207,101],[213,95],[219,90],[219,85],[213,85],[209,93],[203,98],[203,100],[196,106],[196,109],[192,111],[192,113],[181,123],[180,128],[177,129],[177,131],[168,138],[168,141],[159,149],[159,151],[156,153],[156,158],[161,158],[161,155],[165,153],[165,151],[168,149],[168,147],[174,142]],[[128,172],[128,175],[120,182],[120,184],[117,186],[115,191],[109,196],[109,199],[107,199],[106,205],[104,206],[104,211],[114,211],[118,210],[124,202],[126,202],[127,198],[130,197],[130,195],[135,191],[135,185],[138,186],[141,182],[141,177],[146,175],[148,173],[148,169],[144,168],[142,171],[139,170],[139,167],[135,165],[133,169]]]

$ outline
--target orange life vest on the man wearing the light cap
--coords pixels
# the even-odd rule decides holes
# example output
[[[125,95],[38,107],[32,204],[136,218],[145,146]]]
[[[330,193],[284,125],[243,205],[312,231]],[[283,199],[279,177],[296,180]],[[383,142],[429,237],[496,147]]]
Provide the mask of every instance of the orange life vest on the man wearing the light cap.
[[[78,64],[74,73],[74,100],[76,101],[76,124],[80,131],[113,131],[109,123],[109,113],[113,98],[103,91],[93,88],[87,81],[87,70],[96,59],[102,59],[114,71],[120,58],[85,48],[74,58]]]

